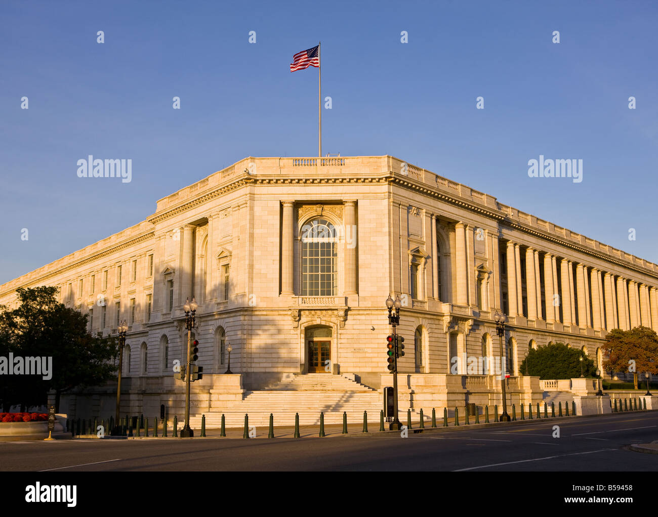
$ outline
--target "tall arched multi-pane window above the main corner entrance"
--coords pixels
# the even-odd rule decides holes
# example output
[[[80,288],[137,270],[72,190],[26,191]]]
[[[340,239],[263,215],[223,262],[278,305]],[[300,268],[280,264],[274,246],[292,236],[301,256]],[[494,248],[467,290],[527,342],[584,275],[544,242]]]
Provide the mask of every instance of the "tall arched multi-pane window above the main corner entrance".
[[[301,295],[334,296],[338,291],[338,232],[324,218],[301,229]]]

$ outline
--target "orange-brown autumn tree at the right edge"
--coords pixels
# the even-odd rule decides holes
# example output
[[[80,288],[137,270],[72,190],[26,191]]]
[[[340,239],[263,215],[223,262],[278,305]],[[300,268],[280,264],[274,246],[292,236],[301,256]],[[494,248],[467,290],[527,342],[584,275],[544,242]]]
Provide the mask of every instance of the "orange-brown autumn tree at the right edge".
[[[609,358],[605,370],[631,372],[638,389],[638,372],[658,374],[658,334],[647,327],[632,330],[615,328],[605,337],[605,351]]]

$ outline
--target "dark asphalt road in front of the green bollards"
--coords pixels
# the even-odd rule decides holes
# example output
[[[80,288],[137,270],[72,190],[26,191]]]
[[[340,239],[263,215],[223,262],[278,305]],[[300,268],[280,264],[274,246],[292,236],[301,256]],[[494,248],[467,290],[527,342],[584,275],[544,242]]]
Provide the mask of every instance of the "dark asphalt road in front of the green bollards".
[[[560,437],[553,437],[553,426]],[[58,440],[0,443],[0,470],[656,471],[658,412],[534,420],[489,428],[303,439]]]

